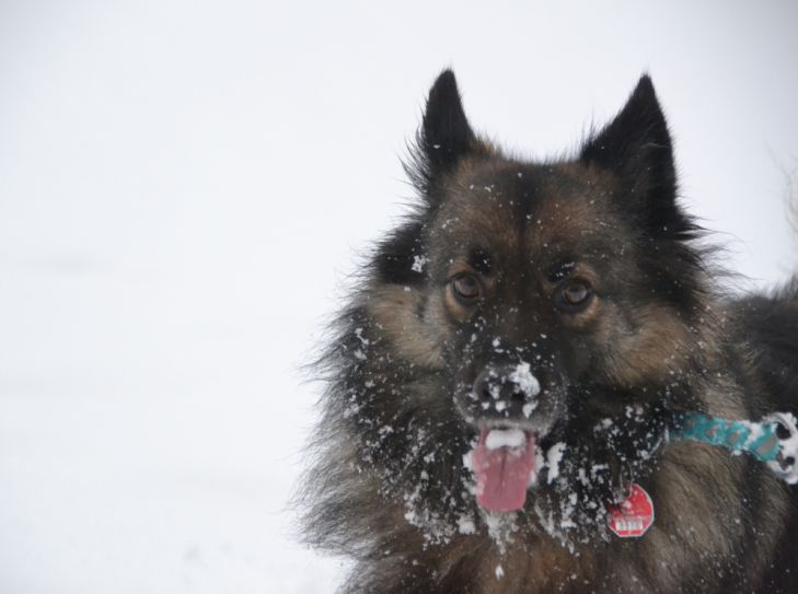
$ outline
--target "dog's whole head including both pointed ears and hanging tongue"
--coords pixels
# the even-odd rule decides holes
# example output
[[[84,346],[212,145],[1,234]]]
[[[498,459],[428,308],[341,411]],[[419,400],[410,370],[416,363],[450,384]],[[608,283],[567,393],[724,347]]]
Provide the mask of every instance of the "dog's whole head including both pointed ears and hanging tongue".
[[[407,406],[432,431],[456,418],[488,510],[521,509],[558,442],[593,467],[634,463],[657,438],[644,417],[692,364],[701,313],[695,228],[650,81],[576,159],[530,163],[474,135],[444,72],[418,140],[426,203],[382,245],[369,304],[403,364],[428,372]],[[629,407],[637,427],[606,426]]]

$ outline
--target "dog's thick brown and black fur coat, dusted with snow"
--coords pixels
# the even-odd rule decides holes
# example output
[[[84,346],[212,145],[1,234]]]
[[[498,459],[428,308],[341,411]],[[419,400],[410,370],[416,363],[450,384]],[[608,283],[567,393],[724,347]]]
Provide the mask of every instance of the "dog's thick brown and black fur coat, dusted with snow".
[[[679,411],[796,411],[798,279],[722,296],[648,77],[573,159],[534,163],[474,135],[444,71],[413,154],[421,199],[378,244],[320,366],[304,526],[356,561],[343,591],[798,592],[798,487],[664,440]],[[460,273],[475,303],[452,293]],[[592,298],[564,311],[573,278]],[[539,447],[567,447],[522,511],[488,514],[463,464],[467,398],[519,361],[543,387]],[[639,539],[605,528],[629,480],[656,508]]]

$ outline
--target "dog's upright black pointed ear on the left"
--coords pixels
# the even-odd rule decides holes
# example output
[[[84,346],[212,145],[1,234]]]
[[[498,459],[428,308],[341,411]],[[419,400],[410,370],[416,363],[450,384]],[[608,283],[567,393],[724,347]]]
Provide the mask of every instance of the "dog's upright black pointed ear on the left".
[[[419,132],[419,149],[430,176],[451,168],[475,145],[476,137],[465,118],[454,73],[444,70],[429,91]]]

